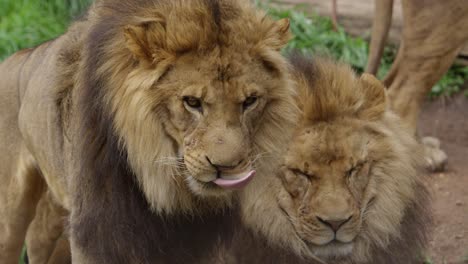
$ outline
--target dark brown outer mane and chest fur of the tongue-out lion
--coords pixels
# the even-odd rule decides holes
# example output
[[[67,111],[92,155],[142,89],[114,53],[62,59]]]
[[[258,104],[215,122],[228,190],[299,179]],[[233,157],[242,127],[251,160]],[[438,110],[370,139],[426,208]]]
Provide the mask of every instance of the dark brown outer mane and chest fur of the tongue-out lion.
[[[220,236],[229,236],[230,211],[201,217],[161,216],[150,211],[127,152],[118,142],[112,113],[104,97],[108,77],[97,69],[107,56],[106,46],[121,34],[122,19],[145,6],[165,1],[104,1],[114,12],[104,17],[87,36],[83,50],[86,65],[82,71],[80,127],[82,145],[75,151],[81,157],[81,170],[72,185],[74,243],[91,253],[96,263],[194,263],[209,255]],[[214,20],[219,18],[218,1],[207,1]],[[138,10],[137,10],[138,9]],[[127,62],[129,66],[132,62]],[[194,239],[198,238],[198,239]],[[105,240],[105,241],[103,241]]]

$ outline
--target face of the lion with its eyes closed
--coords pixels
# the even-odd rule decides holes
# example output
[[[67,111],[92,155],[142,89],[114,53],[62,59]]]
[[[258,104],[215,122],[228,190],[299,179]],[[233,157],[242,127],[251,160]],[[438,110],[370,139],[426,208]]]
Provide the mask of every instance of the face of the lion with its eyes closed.
[[[346,122],[302,129],[283,166],[287,193],[280,202],[298,235],[324,258],[351,253],[372,199],[371,135]]]

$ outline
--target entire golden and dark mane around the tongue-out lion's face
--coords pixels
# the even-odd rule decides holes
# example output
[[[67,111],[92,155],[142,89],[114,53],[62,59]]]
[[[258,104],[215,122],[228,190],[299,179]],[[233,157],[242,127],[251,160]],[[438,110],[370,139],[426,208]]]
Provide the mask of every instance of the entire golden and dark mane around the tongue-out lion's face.
[[[178,143],[164,133],[169,117],[158,107],[158,98],[164,95],[156,89],[153,98],[145,98],[139,90],[163,76],[178,54],[212,45],[256,45],[266,67],[280,75],[287,71],[282,59],[270,51],[279,49],[287,38],[270,35],[273,21],[252,9],[248,1],[182,2],[98,1],[85,21],[75,25],[76,30],[89,33],[77,41],[81,44],[78,63],[69,64],[77,67],[73,69],[77,71],[73,97],[78,101],[70,111],[77,113],[71,127],[79,131],[72,140],[79,142],[74,146],[79,170],[70,178],[74,190],[71,243],[90,253],[96,263],[193,262],[209,255],[214,241],[229,237],[229,223],[235,218],[236,210],[226,209],[232,201],[200,201],[178,171],[151,163],[176,157],[174,145]],[[193,23],[190,16],[200,20]],[[135,44],[124,38],[122,27],[144,22],[146,17],[166,22],[159,39],[167,43],[151,55],[159,65],[156,74],[145,70],[146,65],[135,64],[122,49]],[[252,35],[249,28],[257,34]],[[236,38],[230,37],[232,32],[237,32]],[[148,55],[137,46],[133,51]],[[141,67],[134,70],[136,66]],[[284,80],[281,85],[288,87]],[[279,135],[294,120],[293,102],[288,91],[283,92],[271,95],[278,98],[272,102],[276,106],[259,120],[263,125],[253,142],[260,153],[280,149]],[[154,112],[161,120],[154,122]]]

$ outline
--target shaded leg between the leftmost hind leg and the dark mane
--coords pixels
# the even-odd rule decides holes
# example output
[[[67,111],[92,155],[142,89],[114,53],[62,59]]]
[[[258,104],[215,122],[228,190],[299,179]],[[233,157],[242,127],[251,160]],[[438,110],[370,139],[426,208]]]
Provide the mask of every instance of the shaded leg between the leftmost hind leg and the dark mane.
[[[65,245],[59,243],[64,233],[64,221],[67,211],[57,205],[50,193],[45,192],[36,208],[36,216],[28,228],[26,235],[26,246],[28,250],[29,261],[32,264],[45,263],[69,263],[70,250]],[[60,246],[60,248],[57,248]],[[64,251],[56,253],[52,258],[54,250]],[[63,256],[57,258],[58,256]]]

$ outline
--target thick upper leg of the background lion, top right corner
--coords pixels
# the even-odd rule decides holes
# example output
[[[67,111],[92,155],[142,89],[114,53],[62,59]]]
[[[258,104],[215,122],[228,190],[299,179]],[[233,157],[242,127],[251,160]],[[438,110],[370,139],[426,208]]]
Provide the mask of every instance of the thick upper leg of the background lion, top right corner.
[[[402,40],[384,83],[389,88],[392,107],[415,132],[428,92],[468,41],[468,6],[464,0],[402,4]]]

